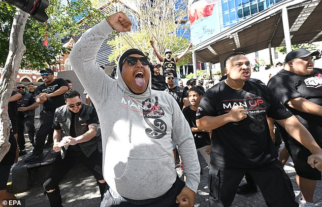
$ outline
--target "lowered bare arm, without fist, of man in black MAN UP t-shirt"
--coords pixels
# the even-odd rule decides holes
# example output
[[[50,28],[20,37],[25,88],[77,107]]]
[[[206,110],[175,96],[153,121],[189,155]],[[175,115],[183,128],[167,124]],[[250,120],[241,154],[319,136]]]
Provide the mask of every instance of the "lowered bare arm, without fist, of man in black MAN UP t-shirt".
[[[280,124],[289,135],[306,147],[312,154],[322,153],[321,148],[317,145],[313,139],[313,136],[295,116],[275,121]]]

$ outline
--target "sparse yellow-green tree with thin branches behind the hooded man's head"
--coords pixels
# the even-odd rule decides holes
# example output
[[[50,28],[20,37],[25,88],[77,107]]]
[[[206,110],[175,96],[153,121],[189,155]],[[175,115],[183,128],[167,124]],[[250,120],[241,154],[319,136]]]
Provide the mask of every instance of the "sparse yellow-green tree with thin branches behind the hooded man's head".
[[[115,61],[116,57],[127,49],[138,48],[149,53],[153,62],[158,62],[150,45],[151,38],[161,55],[166,49],[170,49],[175,57],[188,47],[189,40],[176,36],[179,28],[186,32],[189,27],[185,20],[187,0],[154,0],[153,4],[150,0],[135,0],[133,2],[134,12],[123,12],[137,19],[138,29],[115,34],[115,39],[108,42],[114,47],[114,51],[109,57],[110,61]],[[189,63],[190,58],[191,53],[188,53],[177,63],[177,66]]]

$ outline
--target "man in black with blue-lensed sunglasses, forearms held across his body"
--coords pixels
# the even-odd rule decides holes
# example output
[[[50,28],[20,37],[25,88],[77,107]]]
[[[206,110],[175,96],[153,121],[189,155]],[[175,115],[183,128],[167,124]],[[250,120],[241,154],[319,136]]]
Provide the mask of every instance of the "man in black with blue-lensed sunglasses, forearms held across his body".
[[[36,102],[43,105],[40,112],[39,122],[36,127],[33,154],[28,156],[24,162],[41,159],[44,154],[46,136],[53,133],[52,124],[56,108],[65,105],[63,94],[68,91],[68,83],[62,78],[54,79],[54,72],[50,68],[40,71],[45,82],[36,88]]]

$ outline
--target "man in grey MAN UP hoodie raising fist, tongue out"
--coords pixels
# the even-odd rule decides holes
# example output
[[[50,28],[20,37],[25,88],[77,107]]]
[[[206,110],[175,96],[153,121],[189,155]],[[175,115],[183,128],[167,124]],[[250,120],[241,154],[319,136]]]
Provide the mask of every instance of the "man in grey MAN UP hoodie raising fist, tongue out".
[[[110,186],[101,206],[192,206],[200,182],[194,139],[175,99],[151,89],[148,58],[137,49],[119,58],[118,79],[95,62],[112,31],[130,31],[122,12],[87,30],[70,60],[98,113],[103,144],[103,176]],[[185,186],[177,178],[172,141],[180,150]]]

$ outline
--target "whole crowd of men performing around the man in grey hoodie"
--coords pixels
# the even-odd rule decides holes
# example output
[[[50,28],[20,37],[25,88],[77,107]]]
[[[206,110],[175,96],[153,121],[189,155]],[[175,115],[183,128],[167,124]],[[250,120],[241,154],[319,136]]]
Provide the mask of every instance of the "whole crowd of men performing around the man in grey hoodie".
[[[26,154],[26,130],[33,152],[24,162],[43,158],[47,136],[60,152],[44,183],[51,206],[62,206],[59,183],[79,163],[95,177],[102,207],[193,206],[203,174],[197,152],[210,166],[209,206],[230,206],[245,175],[268,206],[314,206],[322,170],[322,70],[312,61],[319,52],[289,52],[268,86],[250,79],[249,59],[234,52],[224,60],[226,76],[204,89],[196,79],[183,87],[177,78],[175,64],[191,44],[178,57],[170,50],[162,57],[151,39],[163,64],[151,65],[144,52],[129,49],[119,56],[111,78],[95,62],[96,53],[109,33],[130,31],[131,25],[124,13],[115,13],[88,29],[72,49],[70,61],[90,97],[87,104],[71,81],[54,79],[49,68],[40,71],[44,84],[28,85],[30,92],[16,84],[9,99],[12,146],[1,162],[0,196],[9,197],[5,175],[17,156]],[[35,128],[39,105],[43,110]],[[293,159],[299,200],[278,159],[274,125]],[[184,181],[175,170],[177,153]]]

